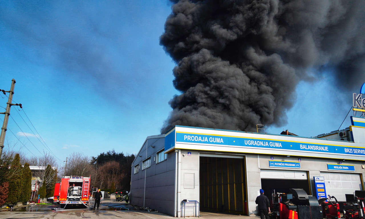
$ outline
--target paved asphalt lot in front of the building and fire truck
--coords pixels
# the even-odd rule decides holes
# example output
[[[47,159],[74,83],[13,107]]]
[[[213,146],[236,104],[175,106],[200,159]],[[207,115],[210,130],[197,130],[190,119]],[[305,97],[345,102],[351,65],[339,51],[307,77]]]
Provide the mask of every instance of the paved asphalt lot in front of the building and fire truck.
[[[160,212],[147,212],[145,210],[135,210],[132,205],[125,205],[124,202],[115,202],[111,200],[102,200],[99,210],[62,210],[54,211],[52,208],[59,205],[36,205],[19,207],[13,210],[1,210],[0,219],[71,219],[71,218],[123,218],[123,219],[165,219],[173,218],[170,215]],[[203,219],[255,219],[257,216],[239,216],[218,214],[211,212],[201,212],[200,218]]]

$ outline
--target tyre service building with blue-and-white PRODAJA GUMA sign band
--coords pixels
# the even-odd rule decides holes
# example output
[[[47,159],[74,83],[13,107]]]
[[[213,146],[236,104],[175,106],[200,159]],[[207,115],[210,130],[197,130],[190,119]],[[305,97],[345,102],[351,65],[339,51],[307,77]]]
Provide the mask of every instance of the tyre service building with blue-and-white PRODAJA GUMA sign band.
[[[147,137],[132,164],[130,203],[180,217],[199,208],[256,214],[261,188],[269,199],[301,188],[345,201],[364,190],[365,109],[355,111],[362,116],[351,116],[350,127],[313,138],[186,126]]]

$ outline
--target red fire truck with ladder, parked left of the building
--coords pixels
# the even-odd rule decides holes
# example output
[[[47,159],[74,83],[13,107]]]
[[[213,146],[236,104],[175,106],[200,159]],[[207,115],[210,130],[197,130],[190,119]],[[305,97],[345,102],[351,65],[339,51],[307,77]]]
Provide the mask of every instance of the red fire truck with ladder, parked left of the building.
[[[55,187],[56,190],[56,187]],[[55,192],[56,193],[56,192]],[[65,176],[59,188],[59,204],[61,208],[85,205],[89,203],[90,177]]]

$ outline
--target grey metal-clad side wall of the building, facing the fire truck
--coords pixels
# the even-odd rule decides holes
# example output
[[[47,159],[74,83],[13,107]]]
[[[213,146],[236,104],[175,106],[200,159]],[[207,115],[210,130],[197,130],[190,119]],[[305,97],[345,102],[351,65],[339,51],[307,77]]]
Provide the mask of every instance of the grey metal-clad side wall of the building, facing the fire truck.
[[[153,146],[153,147],[152,147]],[[165,161],[156,163],[156,153],[165,147],[164,138],[147,139],[133,162],[131,176],[131,204],[150,207],[173,215],[175,193],[175,155],[169,153]],[[139,157],[141,155],[141,157]],[[150,167],[142,170],[142,161],[150,157]],[[134,174],[134,166],[140,170]]]

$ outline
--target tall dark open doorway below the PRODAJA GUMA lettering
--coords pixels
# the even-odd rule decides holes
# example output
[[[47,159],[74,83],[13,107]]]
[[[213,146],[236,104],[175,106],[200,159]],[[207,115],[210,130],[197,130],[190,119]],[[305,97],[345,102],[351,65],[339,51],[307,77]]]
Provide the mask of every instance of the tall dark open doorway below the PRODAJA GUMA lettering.
[[[243,158],[200,157],[200,210],[247,215]]]

